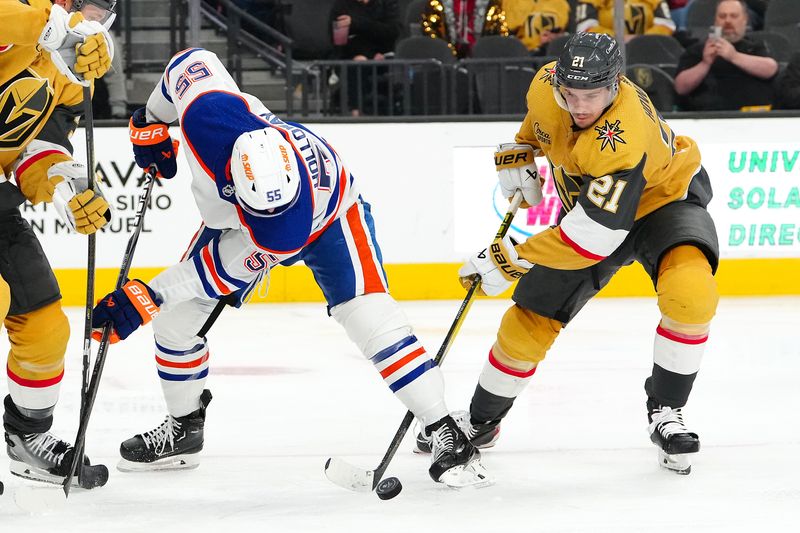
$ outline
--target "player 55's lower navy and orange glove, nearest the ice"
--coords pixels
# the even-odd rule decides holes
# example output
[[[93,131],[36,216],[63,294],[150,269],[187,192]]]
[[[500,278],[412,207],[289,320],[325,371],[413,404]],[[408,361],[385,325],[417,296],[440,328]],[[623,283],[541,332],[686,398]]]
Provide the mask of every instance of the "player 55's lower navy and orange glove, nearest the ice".
[[[162,300],[138,279],[128,281],[97,302],[92,311],[92,338],[100,340],[102,328],[111,326],[111,343],[127,339],[139,326],[147,324],[158,315]]]

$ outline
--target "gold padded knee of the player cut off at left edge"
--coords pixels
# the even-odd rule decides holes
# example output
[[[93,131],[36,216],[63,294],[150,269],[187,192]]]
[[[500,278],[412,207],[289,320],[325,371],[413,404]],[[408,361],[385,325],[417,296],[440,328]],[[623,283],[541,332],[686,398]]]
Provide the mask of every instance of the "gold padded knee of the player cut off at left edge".
[[[60,301],[30,313],[7,317],[6,326],[11,341],[9,367],[30,379],[61,373],[69,340],[69,321]]]

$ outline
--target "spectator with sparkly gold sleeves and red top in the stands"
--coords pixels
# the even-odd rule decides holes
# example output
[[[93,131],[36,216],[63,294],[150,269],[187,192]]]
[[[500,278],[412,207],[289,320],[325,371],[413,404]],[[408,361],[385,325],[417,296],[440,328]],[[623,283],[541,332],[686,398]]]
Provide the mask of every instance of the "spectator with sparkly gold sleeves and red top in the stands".
[[[508,35],[501,0],[430,0],[422,13],[424,35],[445,39],[457,57],[468,57],[482,35]]]

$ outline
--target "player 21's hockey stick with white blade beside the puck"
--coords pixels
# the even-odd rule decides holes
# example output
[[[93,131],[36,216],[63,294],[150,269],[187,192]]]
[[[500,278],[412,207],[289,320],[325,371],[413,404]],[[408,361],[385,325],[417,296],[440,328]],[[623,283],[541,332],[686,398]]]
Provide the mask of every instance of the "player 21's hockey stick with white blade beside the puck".
[[[501,239],[508,233],[508,229],[511,227],[511,221],[514,220],[514,215],[521,203],[522,192],[517,190],[514,197],[511,199],[511,205],[508,207],[506,215],[503,217],[503,222],[497,230],[497,234],[495,235],[496,239]],[[478,292],[480,286],[480,278],[473,281],[472,286],[469,288],[469,291],[467,291],[466,297],[464,297],[464,301],[461,302],[461,307],[458,308],[456,318],[453,320],[453,324],[450,326],[447,335],[445,335],[442,346],[439,348],[439,352],[434,359],[434,363],[436,363],[437,366],[441,366],[445,356],[447,356],[447,352],[450,351],[453,339],[461,329],[461,324],[463,324],[464,319],[467,317],[467,313],[470,307],[472,307],[473,297],[475,293]],[[406,412],[406,416],[403,417],[400,427],[397,428],[397,432],[394,434],[394,438],[389,444],[389,449],[386,450],[383,459],[381,459],[381,462],[374,470],[364,470],[363,468],[351,465],[343,459],[331,457],[325,462],[325,475],[333,483],[345,489],[356,492],[371,492],[375,490],[381,478],[383,478],[386,469],[389,468],[389,463],[392,461],[394,454],[400,447],[400,443],[403,441],[403,437],[405,437],[413,421],[414,413],[411,411]]]

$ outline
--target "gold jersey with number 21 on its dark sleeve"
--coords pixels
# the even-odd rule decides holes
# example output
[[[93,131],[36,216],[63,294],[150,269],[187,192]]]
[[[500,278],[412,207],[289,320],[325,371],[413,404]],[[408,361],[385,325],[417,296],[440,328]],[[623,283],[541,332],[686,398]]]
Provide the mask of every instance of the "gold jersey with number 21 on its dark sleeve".
[[[566,214],[516,249],[532,263],[572,270],[611,255],[636,220],[685,198],[700,151],[691,138],[676,136],[625,77],[600,118],[576,129],[554,98],[554,74],[555,62],[534,77],[516,142],[547,157]]]

